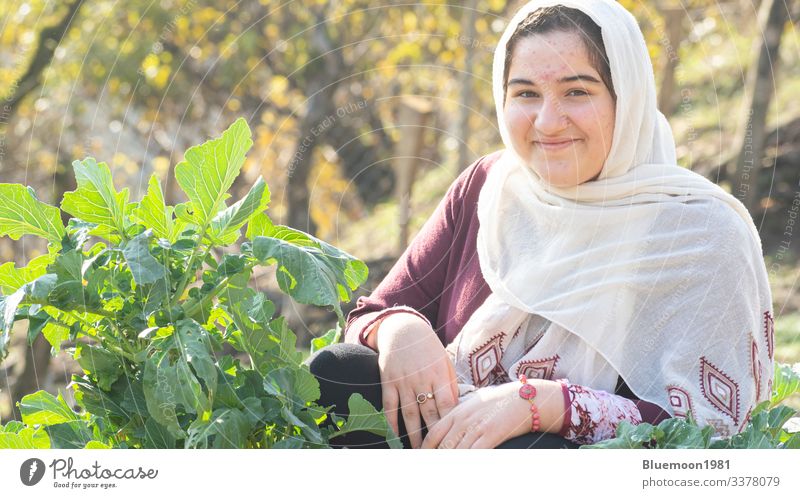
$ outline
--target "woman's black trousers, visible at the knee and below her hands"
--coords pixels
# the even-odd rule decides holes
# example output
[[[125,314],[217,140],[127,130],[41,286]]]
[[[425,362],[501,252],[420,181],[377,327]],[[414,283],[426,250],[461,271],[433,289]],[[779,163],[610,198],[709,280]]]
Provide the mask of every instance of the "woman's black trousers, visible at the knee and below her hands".
[[[318,404],[333,406],[337,415],[347,416],[347,400],[353,393],[361,394],[378,410],[383,409],[378,354],[360,344],[333,344],[314,353],[306,360],[311,373],[319,381],[321,397]],[[330,421],[330,419],[329,419]],[[398,416],[401,440],[411,448],[402,414]],[[427,429],[422,423],[422,436]],[[388,448],[383,438],[366,431],[352,432],[333,438],[331,445],[338,448]],[[498,449],[571,449],[578,445],[561,436],[532,432],[504,442]]]

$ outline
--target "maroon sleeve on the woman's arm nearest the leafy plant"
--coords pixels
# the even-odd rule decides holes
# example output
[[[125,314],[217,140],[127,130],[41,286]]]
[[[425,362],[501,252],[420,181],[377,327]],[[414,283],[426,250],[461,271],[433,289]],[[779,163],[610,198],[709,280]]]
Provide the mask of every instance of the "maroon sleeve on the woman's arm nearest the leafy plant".
[[[382,310],[408,306],[419,311],[437,328],[442,292],[448,280],[448,261],[465,185],[479,159],[450,185],[447,194],[425,222],[414,240],[394,264],[386,278],[369,296],[362,296],[347,316],[345,342],[361,343],[362,331],[376,321]]]

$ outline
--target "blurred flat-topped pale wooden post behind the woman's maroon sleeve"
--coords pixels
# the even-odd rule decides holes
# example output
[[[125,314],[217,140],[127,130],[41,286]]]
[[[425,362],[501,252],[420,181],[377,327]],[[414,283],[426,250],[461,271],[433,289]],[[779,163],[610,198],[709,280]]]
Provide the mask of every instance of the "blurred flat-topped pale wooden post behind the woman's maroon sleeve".
[[[400,140],[395,145],[394,172],[395,198],[398,205],[398,225],[400,238],[398,254],[408,245],[408,223],[411,219],[411,190],[419,166],[419,155],[423,145],[425,126],[431,116],[433,106],[425,99],[415,96],[403,97],[400,101],[397,126],[400,127]]]

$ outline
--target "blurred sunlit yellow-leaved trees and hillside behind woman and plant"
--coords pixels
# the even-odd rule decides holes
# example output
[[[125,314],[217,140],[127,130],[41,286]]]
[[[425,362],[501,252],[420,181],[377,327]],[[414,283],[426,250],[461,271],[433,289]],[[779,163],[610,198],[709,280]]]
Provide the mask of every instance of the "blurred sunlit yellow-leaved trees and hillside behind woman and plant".
[[[455,176],[501,147],[491,63],[521,3],[0,0],[0,181],[58,204],[71,162],[94,156],[132,199],[156,172],[180,202],[183,151],[243,116],[255,145],[234,189],[262,175],[271,216],[365,260],[368,293]],[[751,209],[776,355],[800,361],[800,2],[621,3],[645,32],[680,164]],[[0,264],[44,250],[6,238]],[[324,310],[291,311],[306,341],[330,326]],[[0,419],[75,368],[24,338],[0,365]]]

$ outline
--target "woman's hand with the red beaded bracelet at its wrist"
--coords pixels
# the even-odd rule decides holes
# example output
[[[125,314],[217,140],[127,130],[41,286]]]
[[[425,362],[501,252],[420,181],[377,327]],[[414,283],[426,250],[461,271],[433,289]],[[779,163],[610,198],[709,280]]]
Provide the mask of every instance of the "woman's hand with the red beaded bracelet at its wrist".
[[[557,432],[563,421],[561,386],[552,381],[532,381],[537,395],[541,431]],[[496,448],[531,430],[530,402],[519,396],[519,382],[478,389],[438,424],[429,426],[422,448]]]

